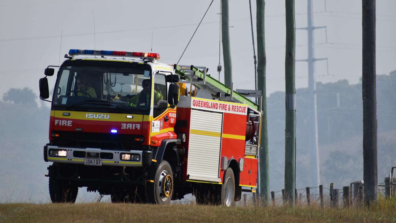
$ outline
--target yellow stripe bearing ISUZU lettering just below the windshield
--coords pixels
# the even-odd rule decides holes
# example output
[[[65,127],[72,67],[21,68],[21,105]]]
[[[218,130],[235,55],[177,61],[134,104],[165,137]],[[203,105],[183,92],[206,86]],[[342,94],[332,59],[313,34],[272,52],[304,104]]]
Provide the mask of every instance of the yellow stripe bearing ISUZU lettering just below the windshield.
[[[63,115],[64,112],[70,113],[69,116]],[[95,119],[87,118],[87,114],[101,114],[103,117],[109,117],[109,119]],[[127,115],[132,115],[133,118],[127,118]],[[95,120],[95,121],[125,121],[125,122],[141,122],[141,121],[151,121],[149,115],[134,115],[134,114],[123,114],[123,113],[97,113],[97,112],[72,112],[72,111],[51,111],[51,116],[55,118],[64,119],[80,119],[80,120]],[[143,118],[144,117],[144,118]]]

